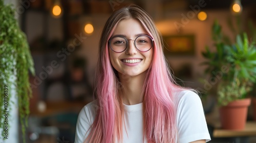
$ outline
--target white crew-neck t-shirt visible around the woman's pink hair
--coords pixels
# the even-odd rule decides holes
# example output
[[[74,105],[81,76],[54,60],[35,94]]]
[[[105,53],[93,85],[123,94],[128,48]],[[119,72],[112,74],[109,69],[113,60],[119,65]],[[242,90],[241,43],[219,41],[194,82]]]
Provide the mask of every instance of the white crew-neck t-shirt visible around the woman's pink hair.
[[[205,139],[210,140],[204,116],[202,102],[198,94],[193,91],[180,91],[174,94],[174,102],[177,109],[177,142],[187,143]],[[123,143],[143,142],[143,113],[142,103],[136,105],[124,105],[124,121],[126,131],[123,128]],[[82,143],[93,124],[96,115],[95,101],[87,104],[80,111],[77,125],[75,143]],[[144,142],[146,142],[144,138]]]

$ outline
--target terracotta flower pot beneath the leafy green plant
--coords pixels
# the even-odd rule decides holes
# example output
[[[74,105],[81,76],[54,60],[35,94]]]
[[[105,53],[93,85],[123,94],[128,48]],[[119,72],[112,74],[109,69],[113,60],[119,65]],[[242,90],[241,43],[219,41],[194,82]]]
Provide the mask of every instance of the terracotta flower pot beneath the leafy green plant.
[[[237,100],[220,108],[221,126],[226,130],[243,130],[251,99]]]

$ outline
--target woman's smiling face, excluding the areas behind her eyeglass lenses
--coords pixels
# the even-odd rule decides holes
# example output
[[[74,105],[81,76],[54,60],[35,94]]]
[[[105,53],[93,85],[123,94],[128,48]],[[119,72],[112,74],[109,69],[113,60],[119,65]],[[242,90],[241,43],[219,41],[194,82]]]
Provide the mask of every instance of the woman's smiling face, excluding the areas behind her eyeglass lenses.
[[[142,34],[147,35],[141,23],[136,19],[124,19],[117,24],[112,37],[122,35],[128,40],[127,48],[121,53],[114,52],[109,46],[111,64],[119,75],[138,76],[145,74],[150,67],[153,48],[147,52],[140,52],[134,45],[136,37]]]

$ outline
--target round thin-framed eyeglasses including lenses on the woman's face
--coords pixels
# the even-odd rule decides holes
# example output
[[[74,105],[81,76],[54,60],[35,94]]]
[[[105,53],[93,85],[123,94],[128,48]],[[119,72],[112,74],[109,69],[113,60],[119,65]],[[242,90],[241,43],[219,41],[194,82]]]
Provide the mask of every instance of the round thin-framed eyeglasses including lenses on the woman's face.
[[[117,35],[110,38],[109,45],[114,52],[121,53],[126,50],[128,45],[128,40],[133,40],[133,39],[126,39],[121,35]],[[148,35],[139,35],[137,38],[135,38],[134,45],[136,49],[139,50],[140,52],[147,52],[153,46],[153,41],[154,39]]]

